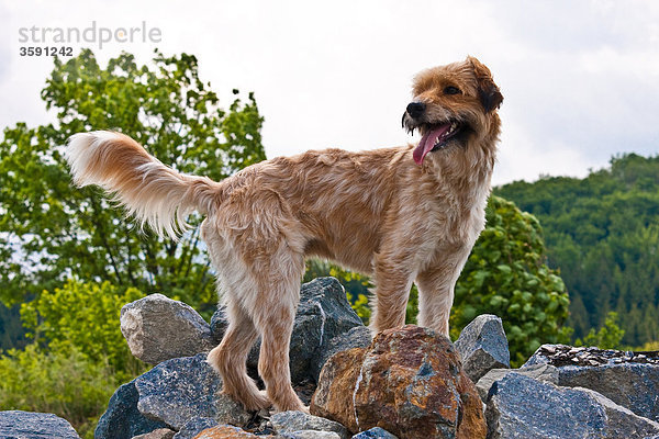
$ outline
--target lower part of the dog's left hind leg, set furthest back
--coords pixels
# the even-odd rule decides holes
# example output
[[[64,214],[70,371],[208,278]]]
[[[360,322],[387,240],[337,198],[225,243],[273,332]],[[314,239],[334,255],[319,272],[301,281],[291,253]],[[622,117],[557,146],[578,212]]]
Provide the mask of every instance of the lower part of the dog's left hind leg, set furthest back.
[[[267,408],[270,402],[247,375],[246,367],[247,354],[258,333],[239,304],[228,300],[226,311],[228,328],[222,342],[211,350],[206,361],[222,376],[222,393],[242,402],[249,410]]]

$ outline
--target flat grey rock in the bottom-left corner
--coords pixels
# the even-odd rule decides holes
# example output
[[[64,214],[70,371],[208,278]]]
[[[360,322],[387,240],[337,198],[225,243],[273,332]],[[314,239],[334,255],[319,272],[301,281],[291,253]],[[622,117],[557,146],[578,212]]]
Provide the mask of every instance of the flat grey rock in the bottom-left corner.
[[[0,438],[7,439],[80,439],[74,427],[51,413],[0,412]]]

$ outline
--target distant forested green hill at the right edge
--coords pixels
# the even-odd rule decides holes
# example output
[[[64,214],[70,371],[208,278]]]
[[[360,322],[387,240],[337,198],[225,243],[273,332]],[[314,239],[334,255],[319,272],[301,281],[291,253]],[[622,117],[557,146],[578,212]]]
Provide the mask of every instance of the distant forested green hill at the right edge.
[[[536,215],[571,299],[574,337],[619,314],[623,342],[659,340],[659,156],[614,157],[584,179],[514,182],[494,193]]]

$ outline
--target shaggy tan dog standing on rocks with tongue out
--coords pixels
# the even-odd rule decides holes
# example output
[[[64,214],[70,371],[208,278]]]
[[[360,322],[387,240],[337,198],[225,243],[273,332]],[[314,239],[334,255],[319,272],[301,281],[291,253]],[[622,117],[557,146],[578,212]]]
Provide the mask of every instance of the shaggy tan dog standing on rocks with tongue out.
[[[417,145],[278,157],[215,182],[182,175],[114,132],[70,137],[77,185],[99,184],[127,213],[176,237],[193,210],[228,314],[208,362],[247,409],[305,410],[290,384],[289,342],[306,257],[373,278],[373,331],[403,326],[412,283],[418,325],[448,336],[454,286],[484,227],[503,101],[473,57],[420,72],[402,125]],[[261,337],[258,371],[246,358]]]

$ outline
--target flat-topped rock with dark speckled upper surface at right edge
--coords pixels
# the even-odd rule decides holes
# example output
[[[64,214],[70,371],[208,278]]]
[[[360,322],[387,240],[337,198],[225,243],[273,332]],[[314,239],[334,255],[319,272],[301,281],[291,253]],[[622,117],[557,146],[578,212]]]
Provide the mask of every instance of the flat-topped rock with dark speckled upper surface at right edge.
[[[659,421],[658,358],[659,352],[543,345],[525,367],[555,365],[558,385],[591,389],[638,416]]]

